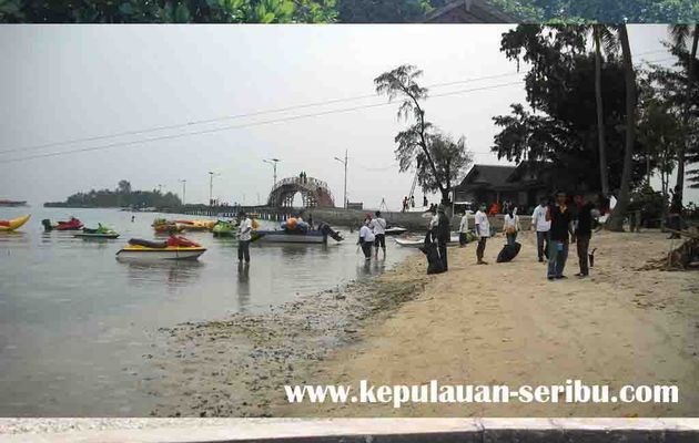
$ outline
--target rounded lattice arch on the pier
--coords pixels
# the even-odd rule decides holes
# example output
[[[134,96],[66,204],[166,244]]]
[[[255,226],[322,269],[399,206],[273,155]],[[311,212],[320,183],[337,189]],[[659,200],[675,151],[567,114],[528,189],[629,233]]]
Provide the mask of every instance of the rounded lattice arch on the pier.
[[[267,198],[267,206],[291,207],[296,194],[301,194],[304,207],[335,207],[327,183],[313,177],[288,177],[276,182]]]

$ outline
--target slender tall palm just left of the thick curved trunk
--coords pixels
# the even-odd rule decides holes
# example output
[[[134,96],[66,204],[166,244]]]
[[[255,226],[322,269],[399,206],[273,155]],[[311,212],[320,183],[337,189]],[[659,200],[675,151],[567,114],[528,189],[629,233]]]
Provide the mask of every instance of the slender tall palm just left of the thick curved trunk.
[[[602,45],[607,53],[615,52],[617,41],[611,30],[604,24],[592,24],[595,40],[595,101],[597,109],[597,141],[599,144],[599,176],[601,190],[609,195],[609,171],[607,169],[607,145],[605,140],[605,112],[601,93]]]

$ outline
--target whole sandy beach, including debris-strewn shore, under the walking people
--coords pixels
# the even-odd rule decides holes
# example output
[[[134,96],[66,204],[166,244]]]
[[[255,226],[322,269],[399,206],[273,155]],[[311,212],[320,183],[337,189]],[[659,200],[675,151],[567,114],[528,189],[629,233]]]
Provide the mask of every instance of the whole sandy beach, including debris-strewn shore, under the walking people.
[[[548,281],[534,236],[496,264],[504,239],[475,265],[475,245],[426,276],[422,255],[366,285],[337,288],[270,316],[182,324],[151,356],[143,385],[154,415],[688,416],[699,411],[699,276],[641,270],[672,246],[659,231],[599,233],[595,267]],[[675,243],[677,246],[677,243]],[[439,383],[676,384],[677,404],[288,404],[282,385]]]

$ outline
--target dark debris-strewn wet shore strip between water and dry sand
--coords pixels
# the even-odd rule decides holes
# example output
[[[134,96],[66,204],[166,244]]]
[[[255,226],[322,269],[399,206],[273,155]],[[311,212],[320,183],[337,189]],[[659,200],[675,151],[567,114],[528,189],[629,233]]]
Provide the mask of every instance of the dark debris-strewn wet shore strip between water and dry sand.
[[[304,379],[332,352],[361,341],[368,324],[422,293],[430,279],[423,261],[415,254],[379,276],[269,312],[160,328],[164,340],[144,356],[150,370],[140,382],[156,404],[150,415],[272,416],[285,402],[283,384]]]

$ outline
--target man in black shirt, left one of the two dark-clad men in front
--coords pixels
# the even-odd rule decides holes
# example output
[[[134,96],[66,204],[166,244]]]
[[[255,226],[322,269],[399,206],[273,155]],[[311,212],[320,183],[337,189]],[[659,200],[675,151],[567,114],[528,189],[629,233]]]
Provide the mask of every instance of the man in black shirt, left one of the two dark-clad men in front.
[[[546,220],[551,223],[547,272],[549,280],[567,278],[563,272],[568,259],[568,247],[570,241],[575,243],[573,214],[567,198],[566,193],[558,192],[556,205],[550,205],[546,210]]]

